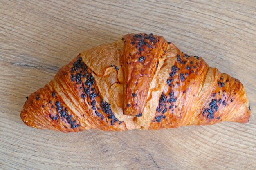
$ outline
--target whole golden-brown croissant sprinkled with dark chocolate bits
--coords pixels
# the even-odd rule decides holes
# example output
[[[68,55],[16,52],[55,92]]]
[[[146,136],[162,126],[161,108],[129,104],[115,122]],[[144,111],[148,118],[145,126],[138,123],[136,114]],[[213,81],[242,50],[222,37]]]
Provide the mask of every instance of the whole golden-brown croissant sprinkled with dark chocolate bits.
[[[21,119],[33,128],[160,130],[251,115],[242,83],[153,34],[128,34],[80,53],[32,93]]]

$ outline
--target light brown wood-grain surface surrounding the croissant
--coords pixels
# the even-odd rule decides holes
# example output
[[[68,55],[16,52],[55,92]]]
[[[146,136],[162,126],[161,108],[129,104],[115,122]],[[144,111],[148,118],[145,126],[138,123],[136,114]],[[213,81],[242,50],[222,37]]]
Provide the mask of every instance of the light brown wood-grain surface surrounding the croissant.
[[[255,0],[0,0],[0,169],[256,169]],[[27,127],[26,96],[80,52],[126,33],[162,35],[244,84],[248,124],[64,134]]]

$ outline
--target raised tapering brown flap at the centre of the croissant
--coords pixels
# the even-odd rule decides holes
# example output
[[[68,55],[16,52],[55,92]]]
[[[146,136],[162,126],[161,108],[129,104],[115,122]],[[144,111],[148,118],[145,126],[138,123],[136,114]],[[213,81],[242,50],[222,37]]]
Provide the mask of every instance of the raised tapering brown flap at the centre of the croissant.
[[[142,33],[128,34],[122,40],[124,115],[142,116],[150,82],[168,44],[163,37]]]

